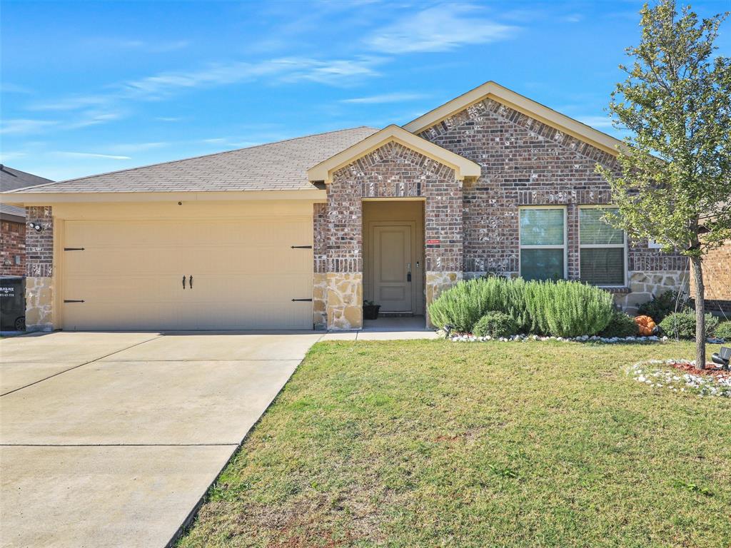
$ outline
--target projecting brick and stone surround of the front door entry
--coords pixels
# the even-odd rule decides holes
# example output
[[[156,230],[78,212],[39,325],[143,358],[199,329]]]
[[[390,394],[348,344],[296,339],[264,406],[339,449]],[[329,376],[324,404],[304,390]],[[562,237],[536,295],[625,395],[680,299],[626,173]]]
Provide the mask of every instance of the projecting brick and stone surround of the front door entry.
[[[361,327],[363,198],[401,197],[425,199],[425,239],[439,242],[426,246],[427,294],[436,295],[461,279],[462,196],[454,171],[390,142],[333,173],[327,186],[326,310],[331,329]]]

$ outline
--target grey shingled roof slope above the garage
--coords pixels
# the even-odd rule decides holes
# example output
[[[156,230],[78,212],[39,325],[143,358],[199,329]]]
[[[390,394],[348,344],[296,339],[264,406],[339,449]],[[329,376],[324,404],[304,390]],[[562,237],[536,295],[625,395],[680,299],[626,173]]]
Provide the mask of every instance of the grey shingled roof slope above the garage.
[[[23,189],[23,194],[313,190],[307,169],[378,130],[342,129]],[[13,191],[17,192],[17,191]]]

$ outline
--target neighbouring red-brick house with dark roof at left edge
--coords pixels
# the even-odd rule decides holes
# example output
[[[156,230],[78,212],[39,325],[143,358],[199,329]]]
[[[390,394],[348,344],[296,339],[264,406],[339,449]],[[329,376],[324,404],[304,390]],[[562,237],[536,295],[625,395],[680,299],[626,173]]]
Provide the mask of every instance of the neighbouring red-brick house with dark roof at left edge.
[[[0,191],[53,183],[0,164]],[[3,199],[3,202],[7,199]],[[0,275],[26,274],[26,210],[0,203]]]

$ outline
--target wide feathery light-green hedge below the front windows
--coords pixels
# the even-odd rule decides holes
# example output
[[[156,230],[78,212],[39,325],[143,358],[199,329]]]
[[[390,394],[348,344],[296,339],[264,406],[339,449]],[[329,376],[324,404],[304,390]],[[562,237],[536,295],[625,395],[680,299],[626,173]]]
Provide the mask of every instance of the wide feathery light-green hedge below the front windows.
[[[595,335],[609,324],[612,295],[577,281],[525,281],[490,277],[463,281],[429,306],[434,325],[470,332],[489,311],[506,313],[518,331],[575,337]]]

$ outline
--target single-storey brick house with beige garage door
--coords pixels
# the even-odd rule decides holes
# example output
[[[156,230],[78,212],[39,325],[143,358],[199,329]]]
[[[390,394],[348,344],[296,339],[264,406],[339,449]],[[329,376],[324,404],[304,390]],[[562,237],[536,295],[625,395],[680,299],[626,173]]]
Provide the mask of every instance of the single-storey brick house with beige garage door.
[[[628,242],[597,163],[621,142],[488,82],[405,126],[359,127],[15,191],[40,232],[26,322],[311,329],[425,315],[495,273],[605,286],[633,308],[687,260]]]

